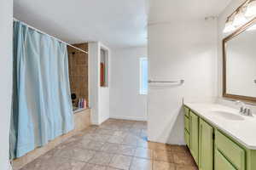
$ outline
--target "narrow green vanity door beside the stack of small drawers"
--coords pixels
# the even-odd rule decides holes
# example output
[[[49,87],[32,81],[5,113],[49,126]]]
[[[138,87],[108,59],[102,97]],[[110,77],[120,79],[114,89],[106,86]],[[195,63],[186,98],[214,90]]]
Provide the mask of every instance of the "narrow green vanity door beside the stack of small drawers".
[[[189,123],[190,123],[190,152],[194,157],[195,162],[198,164],[198,132],[199,132],[199,117],[195,115],[192,111],[189,114]]]

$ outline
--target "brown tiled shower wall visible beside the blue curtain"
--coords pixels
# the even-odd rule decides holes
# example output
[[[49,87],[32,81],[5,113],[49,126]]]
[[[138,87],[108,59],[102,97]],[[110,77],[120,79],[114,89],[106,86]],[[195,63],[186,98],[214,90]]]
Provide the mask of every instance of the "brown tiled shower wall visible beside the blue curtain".
[[[73,46],[88,51],[88,43],[73,44]],[[77,95],[73,105],[78,106],[79,98],[86,99],[88,105],[88,54],[72,47],[68,47],[67,52],[71,93]]]

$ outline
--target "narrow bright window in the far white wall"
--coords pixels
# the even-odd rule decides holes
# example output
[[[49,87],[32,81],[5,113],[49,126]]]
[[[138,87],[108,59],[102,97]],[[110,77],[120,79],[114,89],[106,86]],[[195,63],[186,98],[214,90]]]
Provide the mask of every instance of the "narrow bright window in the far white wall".
[[[148,59],[140,59],[140,94],[148,94]]]

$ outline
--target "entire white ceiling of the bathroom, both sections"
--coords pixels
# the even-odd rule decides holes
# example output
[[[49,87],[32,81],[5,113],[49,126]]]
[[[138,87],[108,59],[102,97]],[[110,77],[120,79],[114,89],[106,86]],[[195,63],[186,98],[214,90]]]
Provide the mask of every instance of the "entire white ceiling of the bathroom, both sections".
[[[69,43],[100,41],[110,48],[127,48],[147,45],[148,21],[216,16],[230,1],[14,0],[14,16]]]

